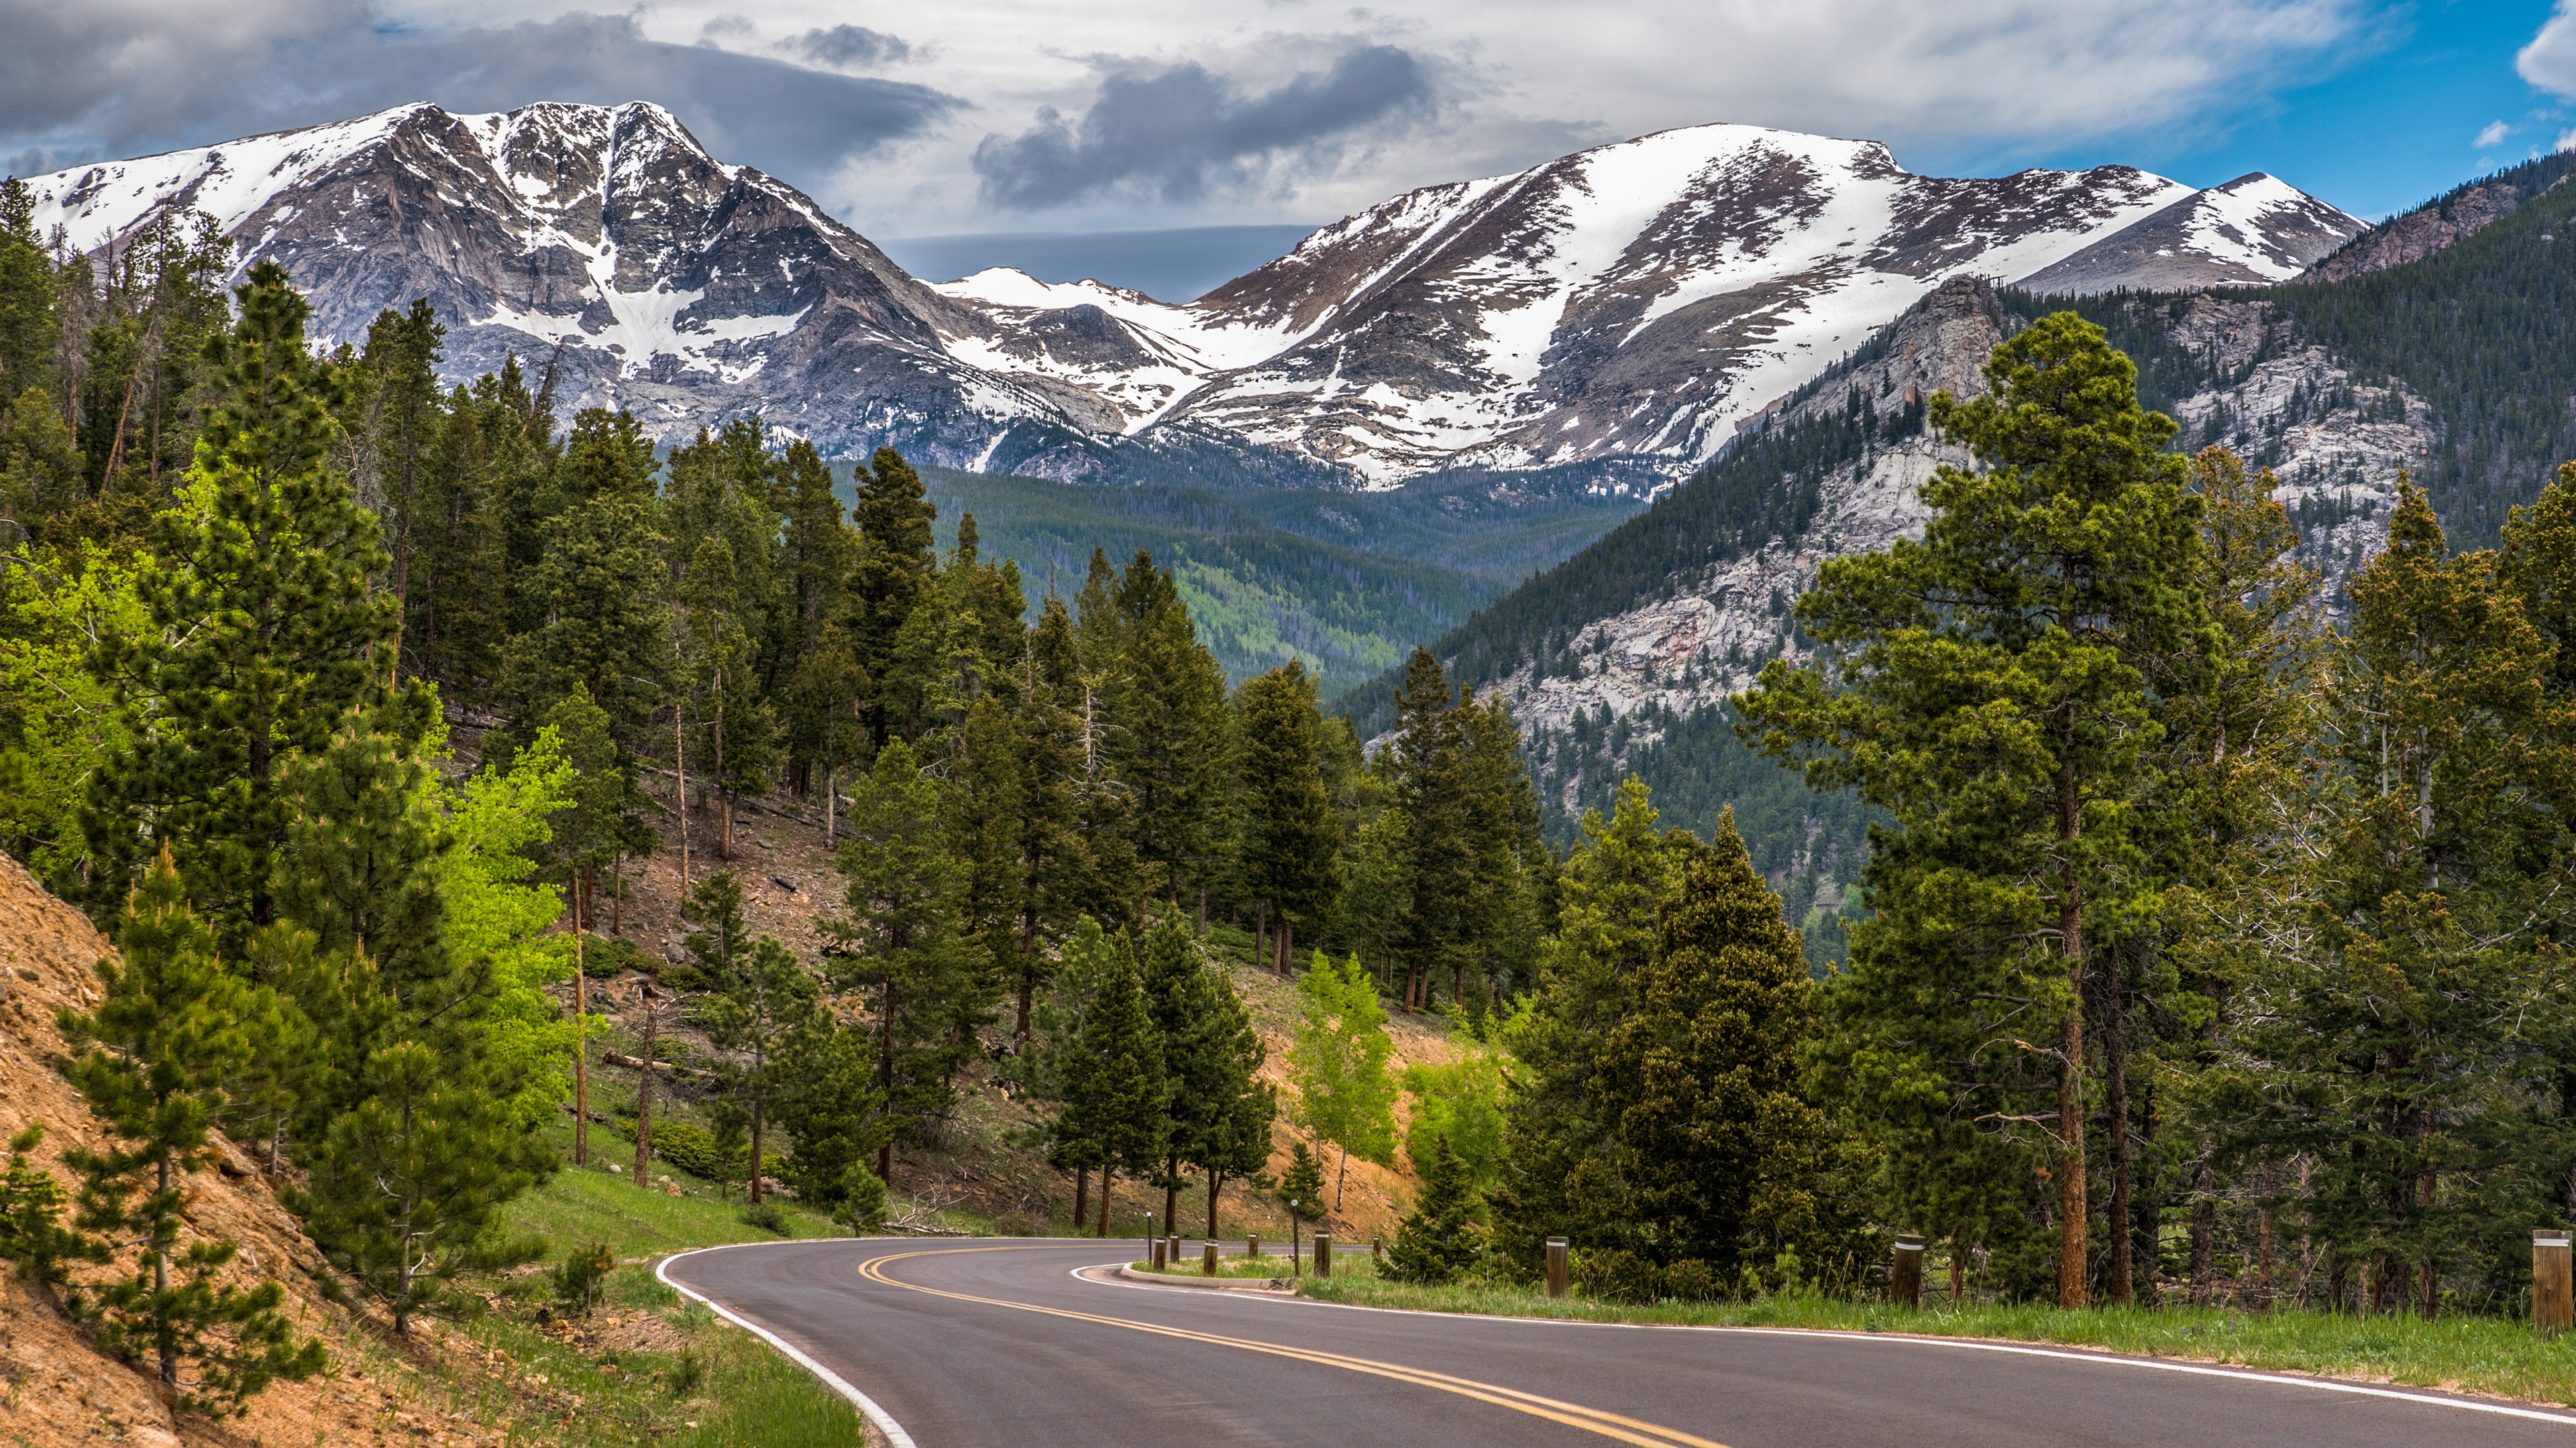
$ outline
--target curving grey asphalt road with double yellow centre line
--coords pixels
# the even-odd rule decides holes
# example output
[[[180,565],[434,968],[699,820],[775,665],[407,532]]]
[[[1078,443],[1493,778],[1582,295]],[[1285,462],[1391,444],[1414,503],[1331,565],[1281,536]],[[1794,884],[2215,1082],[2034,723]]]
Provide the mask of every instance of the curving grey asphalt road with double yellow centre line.
[[[2576,1448],[2576,1415],[1958,1342],[1368,1311],[1077,1275],[1133,1242],[778,1242],[665,1275],[920,1448]]]

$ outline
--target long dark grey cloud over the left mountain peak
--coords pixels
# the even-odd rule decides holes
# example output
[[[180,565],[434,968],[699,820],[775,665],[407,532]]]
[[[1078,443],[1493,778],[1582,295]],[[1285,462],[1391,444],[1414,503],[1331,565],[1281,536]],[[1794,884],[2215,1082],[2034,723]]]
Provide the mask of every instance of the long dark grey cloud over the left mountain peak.
[[[572,13],[510,28],[399,31],[345,0],[214,8],[80,5],[13,26],[0,59],[0,142],[57,165],[204,144],[435,100],[657,100],[716,157],[796,183],[917,134],[961,100],[925,85],[652,41],[631,15]],[[33,147],[31,147],[33,149]],[[88,155],[80,155],[88,152]]]

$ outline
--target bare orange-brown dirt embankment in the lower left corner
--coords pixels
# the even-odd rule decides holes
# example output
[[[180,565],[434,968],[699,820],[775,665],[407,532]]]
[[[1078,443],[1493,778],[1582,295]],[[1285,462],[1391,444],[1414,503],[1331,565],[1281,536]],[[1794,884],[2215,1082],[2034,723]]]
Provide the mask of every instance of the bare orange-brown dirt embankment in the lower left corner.
[[[95,964],[108,943],[70,904],[0,855],[0,1136],[44,1121],[39,1159],[70,1188],[64,1147],[103,1147],[80,1095],[52,1062],[64,1054],[54,1013],[98,1002]],[[417,1368],[456,1355],[440,1327],[394,1342],[379,1317],[325,1301],[327,1273],[312,1239],[278,1206],[255,1162],[216,1139],[214,1165],[188,1177],[188,1234],[242,1244],[229,1268],[242,1286],[276,1278],[286,1317],[325,1340],[332,1371],[304,1384],[276,1384],[229,1422],[173,1417],[149,1368],[100,1358],[59,1306],[0,1273],[0,1443],[57,1448],[129,1443],[170,1448],[206,1443],[500,1443],[500,1435],[430,1415]]]

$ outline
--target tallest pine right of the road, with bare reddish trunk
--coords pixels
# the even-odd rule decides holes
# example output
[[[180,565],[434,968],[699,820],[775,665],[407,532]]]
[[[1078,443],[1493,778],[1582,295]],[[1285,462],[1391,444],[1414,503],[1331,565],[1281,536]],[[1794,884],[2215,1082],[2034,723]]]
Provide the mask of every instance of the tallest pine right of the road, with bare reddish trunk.
[[[1857,786],[1896,817],[1865,876],[1878,915],[1837,976],[1842,1085],[1896,1131],[1929,1103],[2045,1126],[2032,1165],[2058,1190],[2063,1306],[2089,1299],[2087,951],[2148,917],[2164,884],[2136,824],[2161,737],[2141,662],[2208,644],[2200,502],[2136,376],[2099,327],[2056,314],[1994,350],[1989,397],[1935,394],[1932,423],[1986,472],[1924,484],[1919,544],[1824,564],[1798,629],[1826,657],[1772,662],[1736,701],[1814,786]],[[2056,1046],[2004,1051],[2032,1010],[2056,1018]],[[2025,1105],[2032,1067],[2056,1074],[2048,1121]]]

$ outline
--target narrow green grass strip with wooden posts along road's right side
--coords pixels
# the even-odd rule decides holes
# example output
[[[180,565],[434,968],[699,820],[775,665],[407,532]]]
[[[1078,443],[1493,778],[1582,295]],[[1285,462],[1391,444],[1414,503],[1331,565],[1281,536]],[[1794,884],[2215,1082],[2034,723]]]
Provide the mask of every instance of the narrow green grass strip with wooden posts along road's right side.
[[[1303,1296],[1417,1311],[1489,1317],[1564,1317],[1577,1322],[1662,1322],[1682,1327],[1808,1327],[1834,1332],[1914,1332],[2058,1342],[2138,1358],[2192,1358],[2318,1373],[2419,1389],[2576,1407],[2576,1337],[2543,1342],[2524,1322],[2494,1317],[2326,1317],[2318,1311],[2228,1311],[2205,1306],[2094,1309],[1965,1306],[1904,1311],[1821,1296],[1625,1306],[1613,1301],[1504,1286],[1404,1286],[1376,1278],[1306,1278]]]

